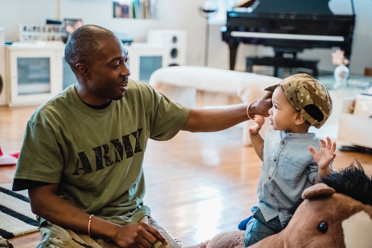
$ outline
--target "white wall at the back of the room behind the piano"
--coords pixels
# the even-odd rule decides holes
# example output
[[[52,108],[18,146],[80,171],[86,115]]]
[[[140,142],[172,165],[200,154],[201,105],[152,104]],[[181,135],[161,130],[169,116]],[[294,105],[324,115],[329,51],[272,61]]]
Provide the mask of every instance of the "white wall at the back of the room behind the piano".
[[[199,14],[204,0],[159,0],[160,20],[112,18],[110,0],[0,0],[0,26],[6,29],[6,39],[18,41],[18,24],[43,24],[46,19],[82,18],[84,24],[96,24],[114,32],[133,32],[134,41],[145,42],[148,29],[182,29],[187,31],[187,65],[203,66],[205,45],[205,18]],[[345,2],[350,0],[331,0]],[[344,3],[343,3],[344,2]],[[356,12],[355,36],[352,47],[350,71],[363,73],[372,67],[372,0],[354,1]],[[337,7],[337,6],[336,6]],[[222,41],[219,29],[211,25],[209,36],[208,66],[229,68],[228,45]],[[321,59],[321,70],[332,71],[334,49],[305,50],[299,58]],[[272,55],[272,48],[241,44],[238,47],[236,70],[245,69],[245,57]]]

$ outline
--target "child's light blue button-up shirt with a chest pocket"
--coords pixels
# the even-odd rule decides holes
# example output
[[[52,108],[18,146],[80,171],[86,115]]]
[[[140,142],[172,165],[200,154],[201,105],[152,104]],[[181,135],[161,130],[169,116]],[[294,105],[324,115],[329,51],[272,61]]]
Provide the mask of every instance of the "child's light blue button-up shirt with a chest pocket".
[[[285,133],[273,129],[266,132],[257,188],[259,207],[266,221],[279,216],[283,225],[289,217],[288,209],[305,188],[314,184],[318,164],[308,146],[320,149],[315,133]]]

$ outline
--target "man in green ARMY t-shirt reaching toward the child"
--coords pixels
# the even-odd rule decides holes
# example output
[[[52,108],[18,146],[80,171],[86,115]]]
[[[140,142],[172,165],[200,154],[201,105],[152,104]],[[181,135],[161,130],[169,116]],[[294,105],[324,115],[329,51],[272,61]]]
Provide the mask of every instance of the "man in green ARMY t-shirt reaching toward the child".
[[[73,32],[65,60],[77,83],[28,121],[13,183],[29,191],[38,247],[177,247],[142,201],[147,139],[224,130],[248,120],[247,108],[267,116],[271,93],[249,107],[189,109],[128,80],[128,51],[95,25]]]

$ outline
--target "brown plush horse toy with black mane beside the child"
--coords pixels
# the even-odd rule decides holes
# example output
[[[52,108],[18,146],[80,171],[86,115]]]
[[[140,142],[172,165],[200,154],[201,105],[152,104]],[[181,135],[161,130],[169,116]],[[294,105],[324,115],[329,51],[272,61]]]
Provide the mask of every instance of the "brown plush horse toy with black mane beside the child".
[[[307,188],[288,225],[249,248],[372,248],[372,181],[351,165]],[[193,248],[244,248],[244,231],[220,233]]]

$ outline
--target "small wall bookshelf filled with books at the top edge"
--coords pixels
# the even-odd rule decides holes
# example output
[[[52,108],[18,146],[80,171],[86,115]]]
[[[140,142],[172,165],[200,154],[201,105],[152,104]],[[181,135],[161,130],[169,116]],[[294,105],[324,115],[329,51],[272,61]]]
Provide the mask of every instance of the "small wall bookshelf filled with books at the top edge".
[[[112,0],[113,18],[158,19],[158,0]]]

